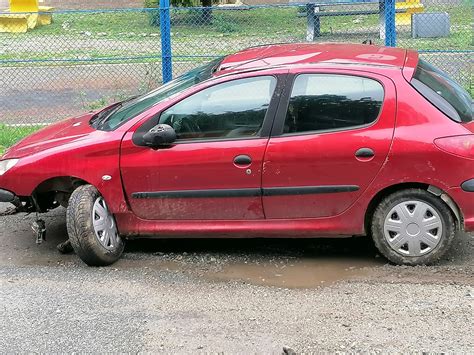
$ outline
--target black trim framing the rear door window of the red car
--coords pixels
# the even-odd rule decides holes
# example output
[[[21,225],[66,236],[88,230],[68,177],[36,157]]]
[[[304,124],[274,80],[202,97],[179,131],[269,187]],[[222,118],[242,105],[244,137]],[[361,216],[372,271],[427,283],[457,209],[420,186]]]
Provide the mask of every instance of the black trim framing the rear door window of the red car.
[[[285,126],[285,120],[286,120],[286,114],[288,112],[288,107],[290,105],[290,99],[291,99],[291,93],[293,92],[293,86],[295,85],[296,79],[300,75],[343,75],[343,76],[357,76],[365,79],[371,79],[375,80],[378,82],[383,89],[383,101],[382,101],[382,106],[380,107],[379,114],[377,115],[377,118],[370,123],[363,124],[363,125],[358,125],[358,126],[351,126],[348,128],[334,128],[334,129],[324,129],[324,130],[317,130],[317,131],[306,131],[306,132],[295,132],[295,133],[283,133],[283,128]],[[277,115],[275,117],[275,123],[273,124],[273,129],[270,134],[270,137],[295,137],[295,136],[309,136],[309,135],[319,135],[319,134],[325,134],[325,133],[337,133],[337,132],[345,132],[345,131],[354,131],[357,129],[364,129],[364,128],[369,128],[375,124],[380,119],[380,116],[382,115],[382,112],[384,110],[385,106],[385,98],[386,98],[386,87],[385,84],[379,80],[378,78],[374,78],[371,76],[367,75],[361,75],[361,74],[353,74],[353,73],[342,73],[342,72],[315,72],[315,71],[307,71],[307,72],[301,72],[297,74],[288,74],[287,82],[290,83],[290,85],[287,85],[283,94],[282,98],[280,100],[280,104],[278,106],[278,111]]]

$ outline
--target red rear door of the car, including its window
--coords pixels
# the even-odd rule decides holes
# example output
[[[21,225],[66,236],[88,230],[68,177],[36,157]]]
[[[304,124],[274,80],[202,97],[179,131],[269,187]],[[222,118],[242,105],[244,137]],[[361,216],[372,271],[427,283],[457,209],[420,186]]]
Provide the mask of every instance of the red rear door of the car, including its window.
[[[395,125],[395,87],[365,72],[294,75],[264,158],[266,218],[335,216],[376,177]]]

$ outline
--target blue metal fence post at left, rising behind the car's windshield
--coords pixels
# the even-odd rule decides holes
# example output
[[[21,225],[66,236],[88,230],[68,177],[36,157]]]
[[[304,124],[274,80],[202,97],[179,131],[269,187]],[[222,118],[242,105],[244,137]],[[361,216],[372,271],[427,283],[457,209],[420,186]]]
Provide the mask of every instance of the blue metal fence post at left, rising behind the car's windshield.
[[[173,78],[171,53],[171,19],[170,0],[160,1],[160,32],[161,32],[161,73],[163,83]]]

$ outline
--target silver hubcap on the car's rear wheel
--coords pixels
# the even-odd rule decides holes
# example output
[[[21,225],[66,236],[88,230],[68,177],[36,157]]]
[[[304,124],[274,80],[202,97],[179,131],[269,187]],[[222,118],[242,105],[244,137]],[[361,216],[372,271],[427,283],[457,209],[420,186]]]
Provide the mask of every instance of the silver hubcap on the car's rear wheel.
[[[443,224],[438,211],[423,201],[395,205],[384,222],[384,237],[390,247],[406,256],[421,256],[436,248]]]

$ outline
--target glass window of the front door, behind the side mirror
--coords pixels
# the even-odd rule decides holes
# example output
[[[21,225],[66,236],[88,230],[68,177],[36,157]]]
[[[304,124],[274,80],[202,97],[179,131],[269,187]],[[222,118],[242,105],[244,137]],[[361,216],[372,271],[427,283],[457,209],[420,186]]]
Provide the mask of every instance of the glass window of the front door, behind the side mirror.
[[[178,140],[257,137],[277,79],[238,79],[206,88],[164,111]]]

